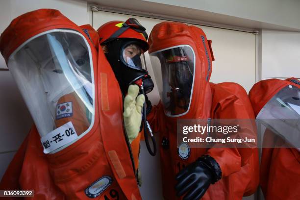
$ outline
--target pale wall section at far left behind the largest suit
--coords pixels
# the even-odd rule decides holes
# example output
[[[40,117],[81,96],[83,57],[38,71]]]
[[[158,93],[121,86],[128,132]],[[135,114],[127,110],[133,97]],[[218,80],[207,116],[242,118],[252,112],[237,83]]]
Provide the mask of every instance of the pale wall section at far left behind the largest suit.
[[[19,15],[39,8],[54,8],[78,25],[88,23],[83,0],[0,0],[0,33]],[[2,68],[2,69],[1,69]],[[32,119],[21,94],[0,55],[0,179],[23,142]]]

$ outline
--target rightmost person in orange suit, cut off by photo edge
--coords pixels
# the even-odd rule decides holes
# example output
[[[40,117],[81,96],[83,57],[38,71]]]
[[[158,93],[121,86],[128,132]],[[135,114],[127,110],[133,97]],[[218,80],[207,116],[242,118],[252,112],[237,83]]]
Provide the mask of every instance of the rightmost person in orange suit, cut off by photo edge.
[[[265,200],[300,199],[300,81],[262,80],[249,98],[263,136],[260,186]]]

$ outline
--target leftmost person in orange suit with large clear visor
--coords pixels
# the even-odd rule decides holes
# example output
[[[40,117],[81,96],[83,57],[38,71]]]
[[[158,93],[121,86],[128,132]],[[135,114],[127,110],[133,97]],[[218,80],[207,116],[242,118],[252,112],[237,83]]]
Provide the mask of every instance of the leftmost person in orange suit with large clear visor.
[[[35,125],[0,189],[34,190],[38,200],[141,200],[123,125],[131,118],[123,117],[122,93],[95,33],[39,9],[1,34],[1,54]],[[129,93],[141,118],[143,95]]]

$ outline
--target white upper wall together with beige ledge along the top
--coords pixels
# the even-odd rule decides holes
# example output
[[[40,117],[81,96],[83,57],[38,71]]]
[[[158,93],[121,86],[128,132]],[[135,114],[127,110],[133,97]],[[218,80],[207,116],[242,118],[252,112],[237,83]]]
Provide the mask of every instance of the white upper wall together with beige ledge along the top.
[[[87,0],[106,11],[253,30],[300,31],[299,0]]]

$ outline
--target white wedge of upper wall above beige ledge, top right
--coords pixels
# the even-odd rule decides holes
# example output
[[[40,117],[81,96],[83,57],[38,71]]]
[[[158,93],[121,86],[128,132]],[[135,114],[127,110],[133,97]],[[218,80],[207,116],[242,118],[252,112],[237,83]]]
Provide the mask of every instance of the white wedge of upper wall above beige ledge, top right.
[[[300,29],[299,0],[145,0]],[[192,14],[192,13],[191,13]]]

